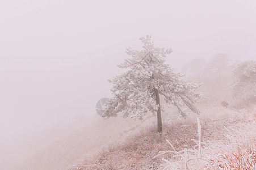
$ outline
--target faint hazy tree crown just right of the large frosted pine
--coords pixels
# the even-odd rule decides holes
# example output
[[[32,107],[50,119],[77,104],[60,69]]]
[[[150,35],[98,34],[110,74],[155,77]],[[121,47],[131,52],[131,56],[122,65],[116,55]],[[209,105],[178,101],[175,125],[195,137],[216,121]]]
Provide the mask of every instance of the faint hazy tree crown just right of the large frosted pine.
[[[204,73],[205,63],[204,58],[195,58],[186,63],[186,65],[182,67],[181,71],[186,75],[198,77]]]

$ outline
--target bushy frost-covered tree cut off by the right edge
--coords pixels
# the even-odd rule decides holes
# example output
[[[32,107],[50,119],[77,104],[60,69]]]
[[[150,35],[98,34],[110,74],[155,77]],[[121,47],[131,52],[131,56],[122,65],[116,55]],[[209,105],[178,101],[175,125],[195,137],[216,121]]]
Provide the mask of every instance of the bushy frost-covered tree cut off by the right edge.
[[[256,96],[256,61],[237,61],[232,70],[230,92],[234,98]]]

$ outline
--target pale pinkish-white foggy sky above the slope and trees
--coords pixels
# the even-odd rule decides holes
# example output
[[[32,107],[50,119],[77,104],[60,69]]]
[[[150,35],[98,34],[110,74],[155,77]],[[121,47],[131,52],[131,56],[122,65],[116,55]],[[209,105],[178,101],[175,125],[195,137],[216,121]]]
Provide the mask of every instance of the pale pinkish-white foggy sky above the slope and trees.
[[[0,145],[94,117],[145,35],[177,70],[216,53],[255,59],[256,1],[0,1]]]

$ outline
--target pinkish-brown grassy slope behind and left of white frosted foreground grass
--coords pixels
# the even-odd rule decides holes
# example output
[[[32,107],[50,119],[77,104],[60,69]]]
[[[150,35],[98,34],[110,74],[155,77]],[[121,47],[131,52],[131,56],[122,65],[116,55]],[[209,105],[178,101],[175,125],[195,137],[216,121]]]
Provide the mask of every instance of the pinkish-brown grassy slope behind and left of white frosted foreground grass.
[[[252,130],[255,137],[255,105],[248,111],[238,112],[223,107],[201,107],[200,122],[204,141],[225,141],[228,129]],[[172,150],[165,141],[168,139],[175,150],[194,148],[198,139],[196,118],[174,120],[163,125],[162,135],[156,133],[156,125],[145,125],[137,133],[130,135],[121,143],[113,143],[106,150],[90,159],[86,159],[72,169],[159,169],[162,156],[154,158],[159,151]],[[253,143],[255,146],[255,140]],[[169,159],[169,155],[163,155]]]

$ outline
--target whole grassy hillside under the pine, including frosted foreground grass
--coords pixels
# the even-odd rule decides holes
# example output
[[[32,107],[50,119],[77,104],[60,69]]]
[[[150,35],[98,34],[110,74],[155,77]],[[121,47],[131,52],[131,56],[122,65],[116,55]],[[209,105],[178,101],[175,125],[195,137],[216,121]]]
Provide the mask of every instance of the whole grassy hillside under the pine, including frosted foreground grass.
[[[223,108],[208,111],[212,116],[206,113],[200,116],[202,139],[207,141],[202,141],[200,161],[195,143],[198,140],[198,125],[196,119],[191,118],[164,124],[162,134],[156,132],[156,125],[141,127],[125,141],[112,143],[100,154],[84,160],[73,169],[184,169],[184,148],[187,148],[189,169],[200,166],[204,169],[252,169],[256,146],[255,128],[251,127],[256,127],[255,114]],[[166,143],[166,139],[173,148]]]

